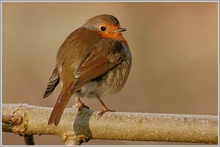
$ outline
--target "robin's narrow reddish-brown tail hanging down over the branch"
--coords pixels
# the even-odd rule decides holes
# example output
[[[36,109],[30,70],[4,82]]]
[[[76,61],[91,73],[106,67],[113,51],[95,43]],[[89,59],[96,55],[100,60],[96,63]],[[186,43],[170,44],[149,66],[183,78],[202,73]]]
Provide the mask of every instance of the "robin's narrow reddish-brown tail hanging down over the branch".
[[[58,125],[61,119],[61,116],[63,114],[63,111],[71,97],[71,94],[67,91],[63,90],[61,91],[57,102],[53,108],[53,111],[51,112],[50,118],[48,120],[48,125],[54,123],[55,125]]]

